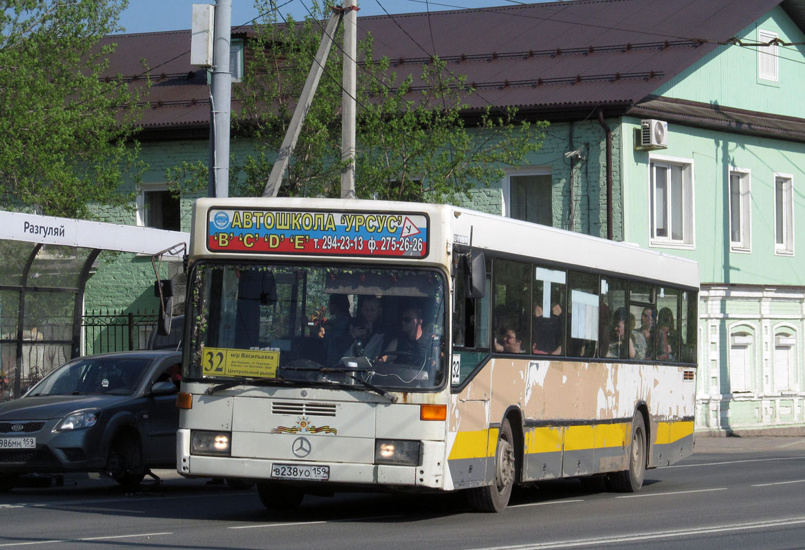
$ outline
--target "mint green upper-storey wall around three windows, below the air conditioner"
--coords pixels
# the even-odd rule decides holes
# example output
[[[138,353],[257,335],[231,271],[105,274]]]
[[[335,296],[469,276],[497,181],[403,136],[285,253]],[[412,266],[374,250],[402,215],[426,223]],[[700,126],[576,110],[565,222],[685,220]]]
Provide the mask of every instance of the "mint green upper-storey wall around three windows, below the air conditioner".
[[[668,125],[668,148],[634,151],[632,129],[637,118],[624,118],[621,131],[630,136],[624,147],[625,240],[649,245],[649,158],[663,155],[693,162],[696,242],[694,250],[656,247],[699,262],[702,283],[805,283],[805,143],[756,138]],[[751,253],[729,252],[727,182],[732,167],[751,177]],[[793,176],[794,256],[774,254],[774,172]]]

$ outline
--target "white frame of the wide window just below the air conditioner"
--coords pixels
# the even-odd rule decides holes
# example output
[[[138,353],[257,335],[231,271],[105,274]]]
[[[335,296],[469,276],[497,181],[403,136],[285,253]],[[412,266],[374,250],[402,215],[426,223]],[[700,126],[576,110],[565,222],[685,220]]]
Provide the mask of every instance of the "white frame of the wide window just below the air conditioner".
[[[672,166],[682,167],[682,226],[683,238],[675,239],[668,237],[656,236],[654,227],[656,216],[656,205],[654,196],[654,172],[657,167],[666,168],[671,172]],[[686,250],[694,250],[696,248],[696,197],[694,190],[696,184],[694,180],[694,163],[693,159],[684,159],[679,157],[671,157],[665,155],[650,155],[648,162],[648,212],[649,212],[649,246],[662,246],[663,248],[678,248]],[[669,182],[671,180],[668,180]],[[669,193],[670,194],[670,193]],[[671,223],[671,201],[667,205],[668,223]],[[670,233],[670,228],[669,228]]]

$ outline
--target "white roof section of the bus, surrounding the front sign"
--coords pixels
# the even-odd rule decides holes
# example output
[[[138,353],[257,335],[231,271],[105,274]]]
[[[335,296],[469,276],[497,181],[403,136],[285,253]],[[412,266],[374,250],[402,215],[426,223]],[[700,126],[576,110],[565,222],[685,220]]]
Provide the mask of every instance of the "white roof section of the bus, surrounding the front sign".
[[[365,201],[321,198],[202,198],[196,201],[193,211],[191,238],[191,259],[203,257],[233,258],[241,254],[221,250],[211,250],[208,246],[209,234],[213,226],[209,213],[213,209],[226,211],[297,211],[324,213],[396,213],[410,214],[414,217],[423,214],[427,221],[427,253],[423,258],[398,256],[383,257],[371,254],[370,257],[355,257],[355,254],[328,254],[332,259],[350,258],[355,261],[377,261],[378,259],[408,260],[416,259],[436,265],[448,263],[452,244],[469,245],[535,261],[561,264],[565,267],[580,266],[612,274],[629,274],[647,280],[664,281],[686,287],[699,287],[698,264],[686,258],[664,254],[656,250],[646,250],[636,245],[613,242],[573,231],[560,230],[547,225],[533,224],[476,210],[452,205],[431,205],[426,203]],[[268,255],[268,254],[266,254]],[[316,254],[293,254],[302,259],[316,258]],[[365,254],[369,256],[369,254]],[[262,256],[263,258],[265,256]],[[320,256],[318,256],[320,258]]]

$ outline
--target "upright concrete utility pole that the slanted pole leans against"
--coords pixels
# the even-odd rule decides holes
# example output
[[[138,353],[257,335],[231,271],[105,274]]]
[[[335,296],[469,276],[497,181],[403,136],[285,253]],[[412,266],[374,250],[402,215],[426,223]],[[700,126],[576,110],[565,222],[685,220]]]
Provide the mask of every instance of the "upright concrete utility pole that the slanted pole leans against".
[[[355,61],[357,57],[357,0],[344,2],[344,92],[341,100],[341,198],[355,198]]]

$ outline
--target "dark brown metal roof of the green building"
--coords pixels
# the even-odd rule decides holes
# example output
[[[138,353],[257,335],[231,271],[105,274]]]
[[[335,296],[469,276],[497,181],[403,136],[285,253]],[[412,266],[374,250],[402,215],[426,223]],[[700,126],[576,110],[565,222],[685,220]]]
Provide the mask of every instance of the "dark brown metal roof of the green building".
[[[431,55],[446,60],[448,71],[477,89],[466,99],[471,111],[514,105],[524,116],[557,121],[584,118],[597,107],[625,114],[780,2],[574,0],[362,17],[358,33],[370,32],[375,56],[393,60],[398,75],[410,71],[415,86]],[[784,7],[801,14],[797,2],[785,0]],[[118,44],[110,76],[142,78],[140,60],[150,68],[144,129],[207,128],[209,89],[204,71],[189,64],[190,31],[105,42]]]

